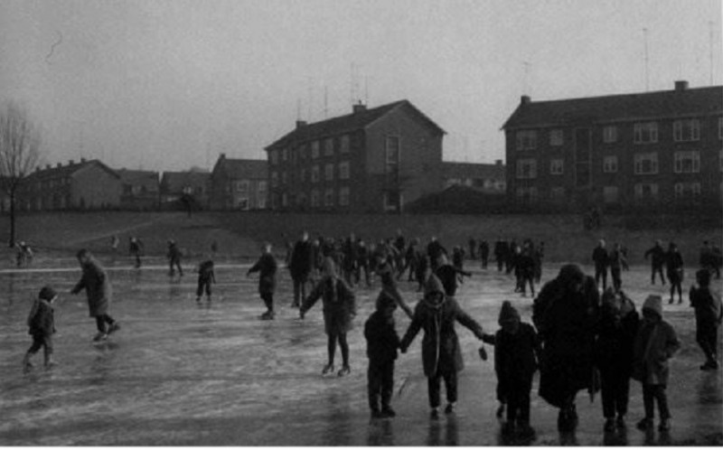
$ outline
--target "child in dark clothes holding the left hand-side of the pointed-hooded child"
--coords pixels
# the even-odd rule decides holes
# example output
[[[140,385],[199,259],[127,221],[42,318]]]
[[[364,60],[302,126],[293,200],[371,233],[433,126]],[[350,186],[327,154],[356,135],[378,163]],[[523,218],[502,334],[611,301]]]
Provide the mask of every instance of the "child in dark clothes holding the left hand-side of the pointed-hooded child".
[[[396,413],[390,407],[394,390],[394,360],[399,349],[399,335],[394,328],[394,310],[396,300],[385,291],[377,297],[376,311],[371,313],[364,324],[364,337],[367,340],[367,389],[371,417],[394,417]],[[379,400],[381,398],[381,409]]]

